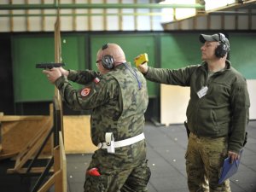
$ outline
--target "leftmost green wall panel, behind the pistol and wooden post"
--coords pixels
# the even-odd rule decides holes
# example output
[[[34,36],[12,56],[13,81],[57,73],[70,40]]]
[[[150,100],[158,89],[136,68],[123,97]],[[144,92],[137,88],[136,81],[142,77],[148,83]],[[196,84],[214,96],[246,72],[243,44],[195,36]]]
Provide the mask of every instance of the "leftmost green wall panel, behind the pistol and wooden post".
[[[12,38],[15,102],[52,100],[55,87],[35,65],[55,61],[53,36],[20,35]],[[84,41],[84,37],[78,35],[61,37],[61,58],[67,64],[66,68],[84,68]]]

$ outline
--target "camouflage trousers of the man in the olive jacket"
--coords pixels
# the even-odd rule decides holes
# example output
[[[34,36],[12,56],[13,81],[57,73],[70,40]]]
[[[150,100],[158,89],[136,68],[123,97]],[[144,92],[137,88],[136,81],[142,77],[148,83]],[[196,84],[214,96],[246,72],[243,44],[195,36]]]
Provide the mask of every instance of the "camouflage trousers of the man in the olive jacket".
[[[227,156],[227,137],[197,137],[190,133],[186,158],[189,192],[230,192],[230,181],[218,184]]]

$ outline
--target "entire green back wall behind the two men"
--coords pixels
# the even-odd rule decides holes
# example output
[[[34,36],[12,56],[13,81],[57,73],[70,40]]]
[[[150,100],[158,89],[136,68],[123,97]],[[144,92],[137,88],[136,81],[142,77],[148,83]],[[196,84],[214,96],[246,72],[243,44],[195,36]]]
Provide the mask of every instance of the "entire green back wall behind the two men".
[[[201,63],[199,33],[145,34],[61,34],[62,61],[66,68],[96,70],[96,52],[103,44],[119,44],[126,61],[148,53],[152,67],[178,68]],[[256,79],[256,35],[230,33],[230,61],[245,78]],[[15,35],[12,37],[15,102],[51,101],[54,86],[49,84],[36,63],[54,61],[54,34]],[[76,88],[79,85],[75,84]],[[148,93],[160,95],[159,84],[148,81]]]

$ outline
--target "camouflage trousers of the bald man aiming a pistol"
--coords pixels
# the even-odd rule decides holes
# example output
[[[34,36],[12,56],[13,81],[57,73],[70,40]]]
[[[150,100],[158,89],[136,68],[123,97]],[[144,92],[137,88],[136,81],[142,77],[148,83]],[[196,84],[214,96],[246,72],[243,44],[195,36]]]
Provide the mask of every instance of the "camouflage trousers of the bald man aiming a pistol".
[[[130,169],[99,169],[100,176],[86,174],[84,192],[148,192],[151,172],[146,161]]]

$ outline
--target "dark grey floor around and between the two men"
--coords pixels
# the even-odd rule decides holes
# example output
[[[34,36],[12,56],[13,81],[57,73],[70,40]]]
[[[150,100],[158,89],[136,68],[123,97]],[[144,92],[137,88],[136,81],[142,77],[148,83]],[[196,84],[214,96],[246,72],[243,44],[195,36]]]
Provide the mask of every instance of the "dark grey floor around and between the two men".
[[[248,140],[238,172],[230,178],[232,192],[256,192],[256,121],[250,121]],[[155,126],[147,123],[148,165],[152,175],[149,192],[188,192],[184,154],[187,135],[183,125]],[[84,171],[91,154],[67,155],[69,192],[82,192]]]

